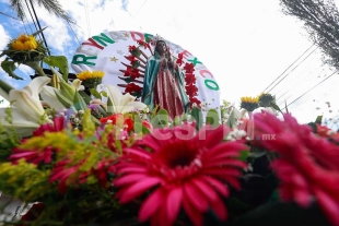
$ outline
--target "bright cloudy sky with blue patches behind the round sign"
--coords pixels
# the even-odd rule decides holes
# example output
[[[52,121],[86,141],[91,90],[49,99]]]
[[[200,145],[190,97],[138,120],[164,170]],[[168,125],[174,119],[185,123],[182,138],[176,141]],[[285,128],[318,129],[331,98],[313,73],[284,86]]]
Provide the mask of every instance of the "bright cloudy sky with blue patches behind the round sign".
[[[295,100],[335,71],[323,64],[322,52],[308,40],[302,22],[284,15],[278,0],[59,2],[77,25],[70,28],[46,10],[35,9],[42,26],[48,26],[44,34],[51,52],[65,55],[69,61],[80,43],[102,32],[159,34],[198,57],[219,83],[221,99],[234,103],[236,107],[242,96],[270,91],[281,106],[284,102],[288,105],[293,102],[288,109],[302,123],[314,121],[318,115],[332,117],[338,114],[338,74]],[[0,0],[0,9],[17,17],[9,7],[9,0]],[[32,33],[31,17],[24,22],[25,25],[0,14],[0,50],[19,34]],[[20,66],[17,74],[25,80],[15,81],[0,69],[0,79],[20,88],[30,82],[32,73],[27,67]],[[269,86],[278,76],[285,79]],[[330,103],[330,108],[326,102]]]

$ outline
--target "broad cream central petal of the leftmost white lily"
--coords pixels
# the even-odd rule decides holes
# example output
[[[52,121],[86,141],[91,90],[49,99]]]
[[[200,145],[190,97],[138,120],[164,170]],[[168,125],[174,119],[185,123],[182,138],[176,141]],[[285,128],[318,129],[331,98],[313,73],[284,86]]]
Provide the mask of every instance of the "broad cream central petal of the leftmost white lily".
[[[13,105],[21,115],[34,122],[38,122],[45,114],[40,100],[32,97],[28,91],[24,88],[12,90],[10,92],[10,99],[11,102],[15,100]]]

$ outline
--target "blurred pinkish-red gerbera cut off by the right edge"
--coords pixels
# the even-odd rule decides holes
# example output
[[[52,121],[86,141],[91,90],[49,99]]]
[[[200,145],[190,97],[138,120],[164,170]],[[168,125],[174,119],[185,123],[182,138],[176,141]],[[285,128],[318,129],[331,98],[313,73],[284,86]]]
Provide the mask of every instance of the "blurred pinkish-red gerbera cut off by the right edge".
[[[290,116],[254,116],[255,134],[268,150],[279,153],[271,167],[281,181],[282,200],[308,206],[315,197],[329,221],[339,225],[339,146],[312,133]]]

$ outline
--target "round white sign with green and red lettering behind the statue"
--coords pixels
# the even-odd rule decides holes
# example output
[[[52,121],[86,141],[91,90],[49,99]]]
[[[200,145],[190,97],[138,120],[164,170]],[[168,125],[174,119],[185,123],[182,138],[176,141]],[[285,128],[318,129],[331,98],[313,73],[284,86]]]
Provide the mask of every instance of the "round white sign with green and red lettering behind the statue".
[[[159,36],[131,31],[101,33],[81,44],[72,58],[71,67],[77,73],[85,70],[104,71],[104,84],[119,86],[121,92],[142,99],[145,68],[148,59],[154,55],[157,38]],[[213,74],[188,50],[163,40],[171,59],[184,74],[183,90],[190,107],[198,105],[202,111],[219,111],[220,86]]]

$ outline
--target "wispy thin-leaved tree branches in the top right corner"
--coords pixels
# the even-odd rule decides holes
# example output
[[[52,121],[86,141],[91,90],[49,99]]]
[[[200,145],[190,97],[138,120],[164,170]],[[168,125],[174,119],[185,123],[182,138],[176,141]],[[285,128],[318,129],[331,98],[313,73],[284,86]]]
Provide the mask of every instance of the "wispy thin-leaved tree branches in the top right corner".
[[[309,39],[325,53],[323,61],[339,69],[339,12],[334,0],[280,0],[280,5],[304,23]]]

